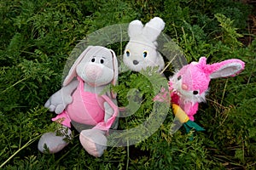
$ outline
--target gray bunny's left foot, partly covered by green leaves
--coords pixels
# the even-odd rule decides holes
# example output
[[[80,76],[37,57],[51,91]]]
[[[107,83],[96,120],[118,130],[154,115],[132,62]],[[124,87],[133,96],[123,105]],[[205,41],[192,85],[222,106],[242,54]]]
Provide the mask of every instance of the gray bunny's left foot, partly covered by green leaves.
[[[68,129],[68,134],[70,135],[70,133],[71,131]],[[44,133],[39,139],[38,150],[42,153],[57,153],[67,146],[68,142],[65,139],[67,139],[67,136],[57,136],[56,133]]]

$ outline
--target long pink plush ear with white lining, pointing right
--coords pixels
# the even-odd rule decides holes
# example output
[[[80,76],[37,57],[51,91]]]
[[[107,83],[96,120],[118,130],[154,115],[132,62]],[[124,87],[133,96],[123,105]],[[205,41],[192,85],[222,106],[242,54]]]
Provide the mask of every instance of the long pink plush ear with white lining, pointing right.
[[[219,63],[207,65],[207,72],[210,78],[235,77],[244,69],[244,62],[240,59],[227,59]]]

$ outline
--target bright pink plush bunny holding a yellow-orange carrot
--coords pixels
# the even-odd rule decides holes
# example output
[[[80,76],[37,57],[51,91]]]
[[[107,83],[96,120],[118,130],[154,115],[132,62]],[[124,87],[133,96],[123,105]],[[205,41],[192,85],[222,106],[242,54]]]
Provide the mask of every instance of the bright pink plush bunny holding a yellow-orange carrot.
[[[199,62],[184,65],[169,81],[172,108],[178,120],[186,127],[196,131],[204,129],[194,121],[198,105],[206,101],[206,94],[211,79],[218,77],[234,77],[244,69],[240,59],[227,59],[219,63],[207,65],[207,58],[201,57]]]

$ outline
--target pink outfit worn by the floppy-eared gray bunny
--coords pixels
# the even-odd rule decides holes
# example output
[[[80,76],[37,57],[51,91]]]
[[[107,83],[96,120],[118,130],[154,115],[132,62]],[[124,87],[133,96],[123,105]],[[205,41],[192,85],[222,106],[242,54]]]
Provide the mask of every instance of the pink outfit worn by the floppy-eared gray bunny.
[[[74,91],[73,102],[52,121],[60,122],[66,127],[71,127],[71,122],[79,122],[85,125],[93,125],[96,129],[107,130],[113,124],[118,115],[118,107],[107,95],[94,94],[84,91],[84,81],[79,80],[78,88]],[[104,102],[107,102],[113,109],[113,115],[104,122]]]

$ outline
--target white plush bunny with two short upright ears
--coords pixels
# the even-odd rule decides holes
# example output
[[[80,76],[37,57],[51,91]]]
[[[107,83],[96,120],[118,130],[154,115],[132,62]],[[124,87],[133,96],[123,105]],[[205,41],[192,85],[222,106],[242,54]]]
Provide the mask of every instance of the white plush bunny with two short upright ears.
[[[165,22],[159,17],[154,17],[145,26],[140,20],[133,20],[128,27],[130,41],[125,46],[123,54],[124,64],[131,71],[141,71],[149,67],[159,67],[161,71],[164,59],[157,51],[157,37],[165,28]]]

